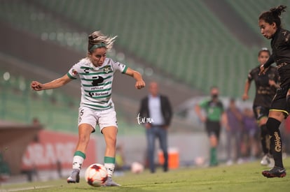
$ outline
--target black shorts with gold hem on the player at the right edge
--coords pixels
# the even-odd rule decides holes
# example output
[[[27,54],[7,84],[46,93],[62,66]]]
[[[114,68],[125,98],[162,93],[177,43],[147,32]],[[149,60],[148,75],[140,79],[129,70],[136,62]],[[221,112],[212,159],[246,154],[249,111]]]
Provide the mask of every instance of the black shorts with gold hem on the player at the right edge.
[[[271,106],[270,106],[270,111],[279,111],[279,112],[284,112],[285,118],[288,117],[289,115],[289,108],[287,107],[287,101],[286,101],[286,96],[288,92],[289,87],[280,87],[277,89],[276,95],[274,96]]]

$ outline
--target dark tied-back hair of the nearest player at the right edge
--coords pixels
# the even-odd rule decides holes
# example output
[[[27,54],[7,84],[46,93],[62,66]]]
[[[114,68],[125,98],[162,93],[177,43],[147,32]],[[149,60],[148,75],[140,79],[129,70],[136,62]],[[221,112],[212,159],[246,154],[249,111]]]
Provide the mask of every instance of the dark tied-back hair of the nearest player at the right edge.
[[[276,23],[277,28],[281,28],[281,14],[285,12],[286,6],[277,6],[270,8],[270,10],[261,13],[258,20],[264,20],[265,22],[272,24]]]

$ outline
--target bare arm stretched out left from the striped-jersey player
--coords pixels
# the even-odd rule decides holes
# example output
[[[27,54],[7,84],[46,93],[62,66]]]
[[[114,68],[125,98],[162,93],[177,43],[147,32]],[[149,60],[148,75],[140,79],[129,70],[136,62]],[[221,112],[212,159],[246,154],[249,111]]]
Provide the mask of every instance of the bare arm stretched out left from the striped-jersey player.
[[[30,87],[32,87],[32,89],[34,91],[41,91],[41,90],[46,90],[46,89],[55,89],[58,87],[62,87],[64,84],[67,84],[70,81],[71,81],[71,78],[69,78],[69,76],[67,76],[67,75],[64,75],[56,80],[53,80],[51,82],[47,82],[45,84],[41,84],[40,82],[37,82],[37,81],[32,81],[32,83],[30,84]]]

